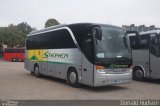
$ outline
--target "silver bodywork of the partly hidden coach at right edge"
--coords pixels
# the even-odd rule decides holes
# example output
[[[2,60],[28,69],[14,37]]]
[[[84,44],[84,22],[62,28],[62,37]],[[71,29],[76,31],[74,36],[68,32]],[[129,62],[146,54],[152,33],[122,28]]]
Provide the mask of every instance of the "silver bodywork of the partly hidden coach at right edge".
[[[139,36],[148,35],[150,36],[149,39],[151,40],[152,34],[159,35],[160,30],[141,32]],[[149,49],[132,50],[132,59],[132,68],[134,69],[135,67],[140,67],[144,72],[144,77],[153,79],[160,78],[160,57],[156,57],[151,53],[151,47],[149,47]]]

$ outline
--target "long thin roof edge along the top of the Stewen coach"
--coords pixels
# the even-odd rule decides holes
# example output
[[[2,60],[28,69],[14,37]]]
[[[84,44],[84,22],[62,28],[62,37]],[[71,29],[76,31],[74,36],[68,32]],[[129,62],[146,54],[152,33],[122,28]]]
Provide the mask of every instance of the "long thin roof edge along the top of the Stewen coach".
[[[45,31],[50,31],[50,30],[53,30],[53,29],[58,29],[58,28],[63,28],[63,27],[70,27],[70,26],[111,26],[111,27],[115,27],[115,28],[120,28],[120,29],[123,29],[125,30],[124,28],[122,27],[118,27],[118,26],[114,26],[114,25],[107,25],[107,24],[96,24],[96,23],[75,23],[75,24],[62,24],[62,25],[55,25],[55,26],[51,26],[51,27],[47,27],[45,29],[41,29],[41,30],[38,30],[38,31],[32,31],[31,33],[29,33],[27,36],[29,35],[36,35],[38,33],[43,33]]]

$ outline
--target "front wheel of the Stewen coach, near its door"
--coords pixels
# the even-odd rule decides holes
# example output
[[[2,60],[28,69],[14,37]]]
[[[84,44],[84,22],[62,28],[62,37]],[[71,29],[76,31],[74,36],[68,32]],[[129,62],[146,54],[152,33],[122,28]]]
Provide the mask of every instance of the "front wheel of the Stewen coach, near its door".
[[[78,74],[75,69],[70,69],[67,74],[67,80],[69,85],[72,87],[78,88],[80,84],[78,83]]]

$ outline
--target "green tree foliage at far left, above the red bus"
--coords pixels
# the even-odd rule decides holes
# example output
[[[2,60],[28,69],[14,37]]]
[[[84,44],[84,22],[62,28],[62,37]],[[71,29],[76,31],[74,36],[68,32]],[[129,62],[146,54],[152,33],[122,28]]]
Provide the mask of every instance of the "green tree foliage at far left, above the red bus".
[[[26,35],[31,31],[32,28],[27,23],[10,24],[8,27],[0,28],[0,43],[9,47],[24,47]]]

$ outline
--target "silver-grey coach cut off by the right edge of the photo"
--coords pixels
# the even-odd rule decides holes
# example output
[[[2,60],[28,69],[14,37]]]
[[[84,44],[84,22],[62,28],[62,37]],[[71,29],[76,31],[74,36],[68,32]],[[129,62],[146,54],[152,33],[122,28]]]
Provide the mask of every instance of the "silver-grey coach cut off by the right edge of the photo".
[[[133,78],[160,78],[160,30],[141,32],[129,35],[132,58]]]

